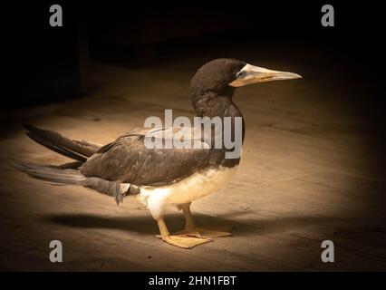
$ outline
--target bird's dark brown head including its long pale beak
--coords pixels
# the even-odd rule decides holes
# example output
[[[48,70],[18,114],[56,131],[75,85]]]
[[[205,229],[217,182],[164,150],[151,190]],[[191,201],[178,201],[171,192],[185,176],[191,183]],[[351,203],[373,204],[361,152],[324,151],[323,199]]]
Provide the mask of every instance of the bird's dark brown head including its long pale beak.
[[[193,76],[193,92],[233,92],[234,88],[258,82],[301,78],[297,73],[279,72],[236,59],[216,59],[204,64]]]

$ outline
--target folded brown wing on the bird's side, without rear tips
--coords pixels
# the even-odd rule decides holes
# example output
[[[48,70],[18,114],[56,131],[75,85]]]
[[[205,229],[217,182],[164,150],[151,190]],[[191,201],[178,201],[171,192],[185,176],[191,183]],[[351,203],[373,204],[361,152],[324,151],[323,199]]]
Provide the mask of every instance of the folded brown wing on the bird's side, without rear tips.
[[[152,140],[166,146],[170,138],[190,143],[191,148],[151,149],[146,145]],[[82,165],[81,172],[86,177],[161,186],[202,169],[208,160],[209,146],[194,128],[138,128],[101,147]]]

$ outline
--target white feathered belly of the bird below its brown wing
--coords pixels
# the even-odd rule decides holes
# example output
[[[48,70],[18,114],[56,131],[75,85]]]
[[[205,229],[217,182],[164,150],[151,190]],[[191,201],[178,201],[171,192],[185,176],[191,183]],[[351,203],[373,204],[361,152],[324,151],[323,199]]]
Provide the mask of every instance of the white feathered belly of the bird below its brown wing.
[[[169,205],[188,203],[224,187],[235,175],[236,168],[237,166],[201,170],[168,186],[140,189],[138,198],[145,205],[149,198]]]

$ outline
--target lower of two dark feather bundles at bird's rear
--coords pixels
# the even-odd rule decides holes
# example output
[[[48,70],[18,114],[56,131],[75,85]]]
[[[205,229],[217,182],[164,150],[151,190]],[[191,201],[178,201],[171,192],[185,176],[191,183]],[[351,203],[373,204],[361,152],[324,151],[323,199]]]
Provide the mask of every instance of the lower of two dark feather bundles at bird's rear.
[[[19,160],[14,160],[13,167],[35,179],[43,179],[56,184],[82,185],[86,180],[86,177],[77,169],[63,169],[61,167],[38,165]]]

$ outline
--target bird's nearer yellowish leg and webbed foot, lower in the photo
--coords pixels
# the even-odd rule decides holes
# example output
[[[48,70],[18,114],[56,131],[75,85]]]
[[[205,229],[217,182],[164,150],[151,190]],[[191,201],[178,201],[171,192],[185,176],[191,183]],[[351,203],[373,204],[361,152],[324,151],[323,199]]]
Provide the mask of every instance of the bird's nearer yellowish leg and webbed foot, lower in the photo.
[[[166,227],[165,221],[163,218],[158,218],[157,223],[159,224],[159,234],[160,237],[170,245],[182,248],[192,248],[198,245],[212,242],[210,238],[198,238],[198,237],[188,237],[188,236],[174,236],[169,234],[168,227]]]

